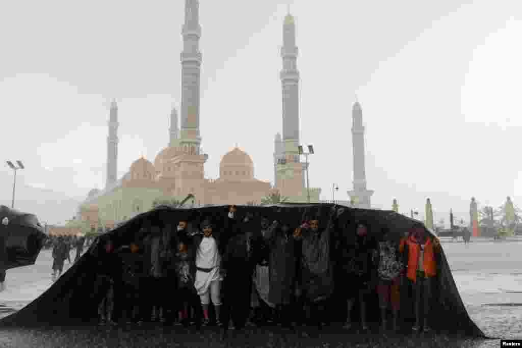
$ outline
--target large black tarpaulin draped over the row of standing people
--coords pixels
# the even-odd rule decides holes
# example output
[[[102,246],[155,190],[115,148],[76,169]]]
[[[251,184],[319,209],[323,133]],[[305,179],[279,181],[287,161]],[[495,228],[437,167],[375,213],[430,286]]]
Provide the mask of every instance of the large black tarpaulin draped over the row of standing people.
[[[256,217],[265,217],[269,221],[286,220],[303,221],[305,217],[319,217],[320,227],[325,228],[330,222],[334,229],[331,232],[331,244],[344,238],[345,241],[354,235],[354,227],[360,222],[366,222],[369,227],[369,236],[377,240],[381,236],[382,227],[390,229],[389,237],[399,243],[414,224],[419,221],[405,217],[394,211],[352,209],[330,204],[281,204],[265,207],[239,206],[238,215],[241,217],[247,212]],[[114,265],[105,264],[110,258],[104,258],[103,245],[110,239],[114,248],[143,241],[148,232],[140,228],[145,221],[159,221],[165,228],[174,228],[183,218],[189,220],[192,229],[197,229],[199,223],[210,218],[215,224],[214,233],[223,233],[226,226],[228,206],[207,207],[198,209],[173,209],[169,207],[158,207],[154,210],[137,215],[116,229],[100,236],[90,246],[89,250],[65,272],[46,292],[26,307],[0,321],[0,326],[42,326],[42,325],[85,325],[95,323],[98,320],[98,305],[104,296],[102,290],[97,288],[97,277]],[[331,221],[325,221],[331,220]],[[295,226],[297,227],[297,226]],[[259,227],[260,228],[260,227]],[[292,227],[293,228],[293,227]],[[426,231],[428,231],[426,229]],[[429,232],[429,231],[428,231]],[[429,232],[431,233],[431,232]],[[336,258],[335,252],[331,257]],[[334,267],[340,267],[342,260],[332,260]],[[444,250],[441,248],[438,259],[438,272],[436,287],[431,298],[431,326],[434,329],[466,334],[475,337],[485,337],[483,332],[470,319],[455,285],[452,273],[449,269]],[[112,268],[111,268],[112,267]],[[335,283],[343,279],[334,278]],[[345,287],[346,289],[346,287]],[[344,294],[335,291],[331,297],[329,316],[333,321],[342,322],[346,319],[346,303]],[[227,301],[226,289],[224,289],[224,301]],[[380,318],[378,299],[375,292],[370,295],[367,319],[378,322]],[[408,282],[401,288],[401,311],[402,320],[413,322],[413,294]],[[352,311],[354,318],[358,316],[358,310]]]

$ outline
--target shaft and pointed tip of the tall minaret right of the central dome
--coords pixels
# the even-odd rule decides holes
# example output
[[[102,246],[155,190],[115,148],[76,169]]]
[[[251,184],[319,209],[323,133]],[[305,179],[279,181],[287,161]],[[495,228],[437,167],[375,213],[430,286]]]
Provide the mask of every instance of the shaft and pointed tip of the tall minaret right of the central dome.
[[[280,73],[283,94],[283,148],[287,155],[296,155],[299,145],[299,71],[297,70],[298,49],[295,45],[295,22],[290,9],[284,18],[283,46]],[[299,161],[299,160],[298,160]]]

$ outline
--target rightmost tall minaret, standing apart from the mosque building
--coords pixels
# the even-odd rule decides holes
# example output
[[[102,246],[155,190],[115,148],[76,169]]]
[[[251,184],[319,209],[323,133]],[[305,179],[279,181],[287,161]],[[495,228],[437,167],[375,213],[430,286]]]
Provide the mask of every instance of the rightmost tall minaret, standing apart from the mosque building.
[[[355,101],[352,109],[352,149],[353,149],[353,190],[348,191],[355,208],[370,209],[372,190],[366,189],[366,172],[364,169],[364,126],[362,125],[362,109],[359,101]]]

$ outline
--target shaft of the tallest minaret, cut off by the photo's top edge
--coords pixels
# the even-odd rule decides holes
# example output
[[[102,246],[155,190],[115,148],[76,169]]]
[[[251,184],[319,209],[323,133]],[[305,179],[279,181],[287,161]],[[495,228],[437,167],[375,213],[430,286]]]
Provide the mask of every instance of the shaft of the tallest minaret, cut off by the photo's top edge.
[[[181,134],[180,145],[195,147],[199,153],[199,80],[201,52],[199,52],[199,1],[185,0],[185,23],[182,29],[181,52]]]

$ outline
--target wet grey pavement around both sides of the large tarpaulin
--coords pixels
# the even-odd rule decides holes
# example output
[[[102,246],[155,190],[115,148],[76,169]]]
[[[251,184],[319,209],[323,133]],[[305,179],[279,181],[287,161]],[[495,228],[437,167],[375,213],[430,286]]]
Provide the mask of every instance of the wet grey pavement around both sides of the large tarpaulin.
[[[450,268],[470,317],[491,337],[522,339],[522,241],[464,243],[443,241]],[[75,251],[71,257],[74,258]],[[6,290],[0,293],[0,318],[22,308],[37,298],[52,284],[51,251],[43,250],[35,265],[7,271]],[[65,270],[69,268],[66,261]],[[167,334],[164,329],[151,329],[160,339]],[[147,345],[147,332],[124,328],[99,330],[81,328],[64,330],[59,328],[34,331],[25,329],[0,330],[0,346],[94,346],[89,341],[97,332],[99,346],[113,340],[114,346],[126,342],[126,346]],[[191,335],[181,340],[184,346],[191,345]],[[126,339],[124,339],[126,337]],[[137,339],[143,337],[143,340]],[[176,340],[180,342],[179,340]],[[192,340],[194,341],[194,340]],[[118,343],[119,342],[119,343]],[[196,341],[194,346],[198,346]],[[449,343],[451,344],[451,343]],[[179,344],[169,343],[169,346]],[[113,346],[112,344],[110,346]],[[152,345],[151,345],[152,346]],[[499,346],[499,341],[468,342],[466,346]]]

